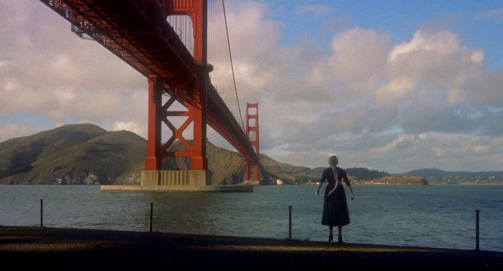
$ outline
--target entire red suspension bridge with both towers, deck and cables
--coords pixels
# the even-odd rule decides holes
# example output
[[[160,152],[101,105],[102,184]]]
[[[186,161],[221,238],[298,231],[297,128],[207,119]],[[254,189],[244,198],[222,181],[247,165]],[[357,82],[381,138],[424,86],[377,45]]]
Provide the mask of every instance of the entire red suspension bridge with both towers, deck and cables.
[[[147,78],[142,185],[210,185],[207,124],[245,159],[245,183],[258,184],[258,104],[247,103],[243,120],[223,0],[40,1],[68,20],[77,35],[100,43]],[[175,101],[184,110],[175,110]],[[177,127],[174,117],[185,121]],[[184,137],[190,126],[192,141]],[[163,127],[171,131],[167,141],[161,139]],[[168,150],[177,140],[185,151]],[[189,157],[191,170],[164,171],[166,157]]]

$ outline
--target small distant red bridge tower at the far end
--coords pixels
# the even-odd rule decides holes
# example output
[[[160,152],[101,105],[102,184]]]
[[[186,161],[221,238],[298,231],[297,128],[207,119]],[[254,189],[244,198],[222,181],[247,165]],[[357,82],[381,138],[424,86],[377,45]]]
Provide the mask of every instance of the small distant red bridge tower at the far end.
[[[250,112],[250,109],[252,112]],[[255,112],[253,112],[255,111]],[[251,169],[251,177],[254,180],[259,181],[259,103],[246,103],[246,135],[248,140],[255,148],[255,153],[257,155],[256,161],[248,161],[246,160],[246,169],[245,169],[245,180],[249,180],[249,172]],[[250,121],[251,120],[251,121]]]

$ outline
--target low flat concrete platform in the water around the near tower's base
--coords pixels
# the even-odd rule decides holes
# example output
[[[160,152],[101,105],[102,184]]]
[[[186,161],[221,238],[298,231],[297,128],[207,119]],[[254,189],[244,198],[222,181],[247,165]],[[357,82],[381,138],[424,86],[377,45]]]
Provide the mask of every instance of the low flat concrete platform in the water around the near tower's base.
[[[101,192],[233,192],[253,193],[251,185],[102,185]]]

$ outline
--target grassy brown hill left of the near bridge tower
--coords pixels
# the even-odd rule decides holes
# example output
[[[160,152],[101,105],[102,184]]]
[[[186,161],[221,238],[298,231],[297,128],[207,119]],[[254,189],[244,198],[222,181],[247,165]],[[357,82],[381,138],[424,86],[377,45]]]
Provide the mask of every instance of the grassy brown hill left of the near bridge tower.
[[[113,184],[144,160],[146,144],[129,131],[64,125],[0,143],[0,183]]]

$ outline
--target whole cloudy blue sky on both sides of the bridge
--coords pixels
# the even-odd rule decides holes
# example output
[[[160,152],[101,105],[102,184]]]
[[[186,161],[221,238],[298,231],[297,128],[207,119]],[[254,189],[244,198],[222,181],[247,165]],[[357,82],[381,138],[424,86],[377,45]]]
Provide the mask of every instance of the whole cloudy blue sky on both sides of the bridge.
[[[271,158],[503,170],[503,2],[225,1]],[[146,138],[147,80],[39,1],[0,0],[0,142],[93,123]],[[208,139],[231,149],[214,130]]]

